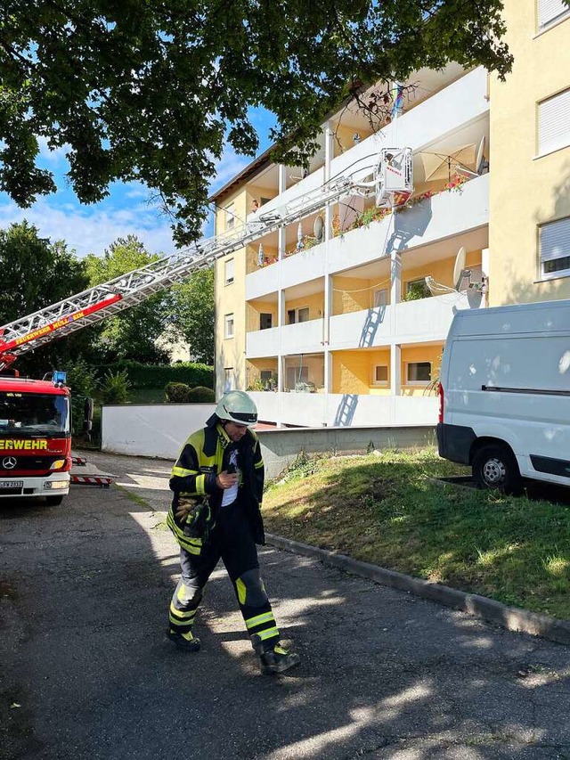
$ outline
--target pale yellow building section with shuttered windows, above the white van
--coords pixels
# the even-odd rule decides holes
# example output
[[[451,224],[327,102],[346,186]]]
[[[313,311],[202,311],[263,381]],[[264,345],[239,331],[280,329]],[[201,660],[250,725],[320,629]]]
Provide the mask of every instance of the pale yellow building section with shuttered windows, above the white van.
[[[570,298],[570,8],[504,0],[515,62],[491,78],[490,306]]]

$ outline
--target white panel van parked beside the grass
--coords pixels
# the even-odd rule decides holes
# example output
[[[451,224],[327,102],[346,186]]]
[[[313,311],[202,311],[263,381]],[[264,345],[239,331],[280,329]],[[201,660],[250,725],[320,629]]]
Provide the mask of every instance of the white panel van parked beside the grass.
[[[570,486],[570,300],[460,311],[440,373],[439,454],[482,486]]]

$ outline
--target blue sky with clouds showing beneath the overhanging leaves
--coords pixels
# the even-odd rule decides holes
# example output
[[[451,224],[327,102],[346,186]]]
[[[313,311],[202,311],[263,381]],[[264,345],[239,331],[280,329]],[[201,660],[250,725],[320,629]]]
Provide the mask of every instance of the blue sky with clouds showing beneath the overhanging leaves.
[[[269,128],[274,124],[273,114],[263,109],[249,112],[259,135],[259,151],[269,147]],[[167,218],[151,205],[151,192],[142,184],[115,183],[110,196],[100,203],[82,206],[69,188],[65,174],[68,162],[65,149],[50,152],[45,141],[40,143],[41,155],[38,165],[53,172],[57,192],[37,200],[30,208],[18,208],[5,193],[0,193],[0,228],[27,219],[36,225],[41,237],[52,241],[62,240],[69,249],[75,249],[78,257],[88,253],[102,255],[103,251],[119,237],[136,235],[151,253],[171,253],[175,250]],[[228,148],[218,163],[214,191],[222,187],[252,160],[237,155]],[[205,233],[211,234],[208,227]]]

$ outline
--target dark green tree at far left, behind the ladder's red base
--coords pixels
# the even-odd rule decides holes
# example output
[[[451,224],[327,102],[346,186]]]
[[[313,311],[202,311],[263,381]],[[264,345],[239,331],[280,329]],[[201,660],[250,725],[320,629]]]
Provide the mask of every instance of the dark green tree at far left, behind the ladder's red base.
[[[0,271],[0,324],[14,322],[88,287],[83,263],[65,243],[40,238],[37,228],[26,221],[0,230]],[[39,377],[52,369],[65,369],[71,357],[89,353],[92,330],[78,331],[22,355],[18,369]]]

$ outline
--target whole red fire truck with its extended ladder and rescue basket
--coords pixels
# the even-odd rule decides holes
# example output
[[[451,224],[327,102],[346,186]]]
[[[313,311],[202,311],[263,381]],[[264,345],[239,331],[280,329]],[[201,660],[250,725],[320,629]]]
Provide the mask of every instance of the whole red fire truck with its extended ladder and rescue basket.
[[[70,394],[64,373],[53,372],[44,380],[3,374],[20,355],[116,315],[267,233],[320,214],[330,203],[361,195],[373,196],[378,206],[394,207],[411,190],[411,149],[384,148],[356,160],[346,175],[332,177],[289,203],[270,201],[266,210],[259,209],[231,230],[4,324],[0,327],[0,498],[42,497],[48,504],[59,504],[69,492]]]

